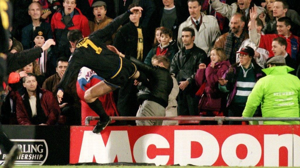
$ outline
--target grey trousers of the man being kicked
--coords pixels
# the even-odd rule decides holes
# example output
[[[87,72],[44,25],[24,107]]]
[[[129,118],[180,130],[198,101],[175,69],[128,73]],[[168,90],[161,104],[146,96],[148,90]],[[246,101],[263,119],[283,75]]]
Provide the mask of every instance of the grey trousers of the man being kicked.
[[[145,100],[137,111],[137,117],[164,117],[166,109],[154,101]],[[162,120],[136,120],[137,126],[161,126]]]

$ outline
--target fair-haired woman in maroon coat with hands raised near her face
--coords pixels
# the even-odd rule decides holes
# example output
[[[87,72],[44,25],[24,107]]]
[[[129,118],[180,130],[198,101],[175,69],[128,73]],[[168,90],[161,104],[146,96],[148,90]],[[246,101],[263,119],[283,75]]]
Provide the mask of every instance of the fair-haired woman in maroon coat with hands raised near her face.
[[[213,48],[210,53],[211,63],[206,67],[200,64],[197,70],[195,80],[200,87],[197,95],[201,97],[199,101],[200,116],[214,117],[224,116],[223,111],[226,107],[227,94],[221,92],[218,88],[218,79],[224,75],[230,67],[223,48]],[[200,121],[201,125],[217,124],[215,121]]]

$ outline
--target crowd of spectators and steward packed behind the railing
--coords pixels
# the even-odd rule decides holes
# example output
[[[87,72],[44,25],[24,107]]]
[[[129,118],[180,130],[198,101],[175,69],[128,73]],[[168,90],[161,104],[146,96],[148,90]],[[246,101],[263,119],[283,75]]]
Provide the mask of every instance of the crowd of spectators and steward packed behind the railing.
[[[132,12],[126,23],[103,40],[149,81],[128,80],[124,87],[99,97],[107,115],[299,117],[300,10],[295,0],[11,2],[14,12],[7,53],[27,56],[33,54],[32,48],[48,46],[49,39],[55,45],[43,48],[38,59],[10,74],[2,124],[84,125],[85,117],[97,116],[84,93],[105,79],[87,67],[67,84],[62,102],[57,101],[58,83],[76,50],[69,34],[88,37],[134,6],[143,11]],[[88,45],[101,52],[98,46]]]

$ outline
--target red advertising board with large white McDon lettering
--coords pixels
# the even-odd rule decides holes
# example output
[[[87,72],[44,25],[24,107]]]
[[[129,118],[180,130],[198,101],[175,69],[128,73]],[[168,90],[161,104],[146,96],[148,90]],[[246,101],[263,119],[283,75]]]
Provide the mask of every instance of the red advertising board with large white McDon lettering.
[[[70,128],[70,163],[300,166],[300,126],[92,126]]]

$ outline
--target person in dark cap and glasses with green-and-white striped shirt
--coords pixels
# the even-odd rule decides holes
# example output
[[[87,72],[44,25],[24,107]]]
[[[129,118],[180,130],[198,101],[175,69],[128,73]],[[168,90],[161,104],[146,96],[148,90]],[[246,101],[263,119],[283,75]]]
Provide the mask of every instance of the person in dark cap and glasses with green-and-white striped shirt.
[[[246,46],[237,53],[240,62],[233,64],[223,78],[219,78],[220,91],[229,92],[226,105],[229,117],[242,116],[249,94],[262,77],[262,68],[253,59],[253,48]],[[240,125],[241,121],[229,121],[229,124]]]

